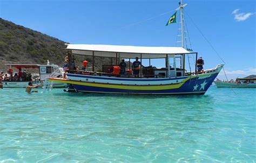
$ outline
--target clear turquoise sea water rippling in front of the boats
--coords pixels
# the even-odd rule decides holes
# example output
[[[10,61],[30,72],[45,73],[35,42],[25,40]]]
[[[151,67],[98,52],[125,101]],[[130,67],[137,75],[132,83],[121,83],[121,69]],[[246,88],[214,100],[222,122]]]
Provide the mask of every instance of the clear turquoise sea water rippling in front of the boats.
[[[0,90],[2,162],[254,162],[256,89],[203,96]]]

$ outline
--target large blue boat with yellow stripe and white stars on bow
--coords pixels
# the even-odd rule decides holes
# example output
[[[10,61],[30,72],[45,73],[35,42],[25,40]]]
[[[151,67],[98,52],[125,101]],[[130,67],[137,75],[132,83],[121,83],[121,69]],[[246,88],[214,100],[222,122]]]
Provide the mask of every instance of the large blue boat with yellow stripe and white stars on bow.
[[[179,5],[180,17],[183,20],[183,7],[186,4],[180,2]],[[66,78],[49,78],[48,81],[68,84],[68,92],[205,94],[224,64],[198,72],[198,52],[185,49],[183,23],[184,21],[181,21],[181,47],[65,44],[64,49],[69,52],[69,70],[66,72]],[[75,55],[92,57],[92,70],[77,70],[73,60]],[[189,61],[191,56],[196,56],[193,63]],[[95,57],[111,58],[111,64],[102,65],[101,71],[95,71]],[[131,74],[130,61],[136,57],[142,65],[145,60],[149,60],[149,66],[140,66],[139,74]],[[160,58],[165,59],[165,67],[154,68],[151,60]],[[129,69],[125,74],[118,71],[120,59],[129,60]],[[185,62],[187,59],[188,63]],[[113,63],[113,60],[116,60],[116,63]]]

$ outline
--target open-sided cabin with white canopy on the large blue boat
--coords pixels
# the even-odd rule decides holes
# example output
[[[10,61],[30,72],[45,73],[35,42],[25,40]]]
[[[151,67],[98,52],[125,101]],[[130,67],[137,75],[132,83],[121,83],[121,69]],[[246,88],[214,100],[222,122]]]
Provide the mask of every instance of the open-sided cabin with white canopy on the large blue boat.
[[[137,77],[137,78],[173,78],[188,76],[197,73],[196,63],[197,52],[190,52],[183,47],[145,47],[145,46],[120,46],[120,45],[86,45],[86,44],[66,44],[66,50],[69,53],[69,73],[92,74],[100,76],[116,76],[116,77]],[[92,57],[91,71],[76,70],[74,56],[84,55]],[[193,61],[188,55],[195,55]],[[102,65],[101,72],[95,72],[95,57],[111,58],[111,63]],[[131,59],[139,58],[141,65],[139,74],[134,76],[131,74],[132,63]],[[113,69],[118,68],[119,63],[125,59],[129,60],[129,65],[126,65],[126,73],[114,73]],[[164,59],[165,67],[156,68],[151,65],[152,59]],[[187,69],[185,68],[185,60],[188,59]],[[113,62],[113,60],[115,62]],[[147,62],[147,63],[145,63]],[[191,66],[192,65],[192,66]],[[193,70],[194,71],[193,71]],[[117,71],[119,72],[119,71]],[[205,72],[203,72],[205,73]]]

